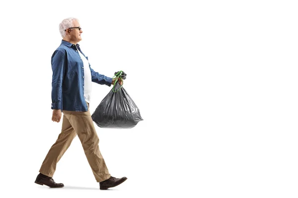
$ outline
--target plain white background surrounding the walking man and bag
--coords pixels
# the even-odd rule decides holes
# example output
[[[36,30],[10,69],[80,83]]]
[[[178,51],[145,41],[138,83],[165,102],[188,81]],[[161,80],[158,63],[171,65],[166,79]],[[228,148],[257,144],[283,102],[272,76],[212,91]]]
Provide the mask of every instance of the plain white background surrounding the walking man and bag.
[[[297,198],[295,0],[9,0],[0,3],[0,197]],[[62,123],[51,121],[58,25],[76,17],[91,67],[144,121],[96,130],[110,173],[99,191],[76,137],[62,189],[34,183]],[[90,111],[110,91],[93,83]]]

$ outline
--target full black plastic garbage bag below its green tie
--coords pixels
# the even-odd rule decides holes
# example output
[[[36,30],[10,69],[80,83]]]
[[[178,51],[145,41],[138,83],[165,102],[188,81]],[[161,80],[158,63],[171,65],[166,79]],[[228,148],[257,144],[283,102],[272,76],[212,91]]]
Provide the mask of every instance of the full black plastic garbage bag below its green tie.
[[[143,120],[139,108],[118,82],[100,102],[91,117],[101,128],[118,129],[133,128]]]

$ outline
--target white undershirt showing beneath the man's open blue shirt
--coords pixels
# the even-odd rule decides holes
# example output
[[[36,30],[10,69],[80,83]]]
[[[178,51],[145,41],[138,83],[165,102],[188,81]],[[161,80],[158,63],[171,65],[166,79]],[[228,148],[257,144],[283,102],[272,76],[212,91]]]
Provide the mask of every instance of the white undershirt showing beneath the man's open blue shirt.
[[[84,64],[84,87],[83,87],[84,98],[86,102],[90,103],[91,90],[92,90],[92,78],[91,78],[91,71],[89,68],[89,62],[78,49],[77,49],[77,52],[80,55]]]

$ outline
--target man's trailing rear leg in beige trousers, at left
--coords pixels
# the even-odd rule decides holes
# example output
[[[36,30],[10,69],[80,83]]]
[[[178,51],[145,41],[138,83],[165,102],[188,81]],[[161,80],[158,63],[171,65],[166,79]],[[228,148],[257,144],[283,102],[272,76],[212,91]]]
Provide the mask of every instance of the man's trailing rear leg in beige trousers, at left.
[[[56,164],[63,156],[65,151],[70,147],[76,133],[70,121],[63,115],[62,130],[58,136],[56,143],[50,148],[45,160],[43,161],[40,173],[53,177],[56,170]]]

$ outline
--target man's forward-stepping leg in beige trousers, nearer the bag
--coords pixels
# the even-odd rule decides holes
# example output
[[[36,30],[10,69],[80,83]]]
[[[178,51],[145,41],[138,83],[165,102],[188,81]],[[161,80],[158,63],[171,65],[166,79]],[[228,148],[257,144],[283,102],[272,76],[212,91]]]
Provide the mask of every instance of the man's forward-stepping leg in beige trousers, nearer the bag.
[[[84,112],[65,111],[65,115],[77,133],[96,181],[109,179],[111,175],[99,151],[99,139],[89,109]]]

